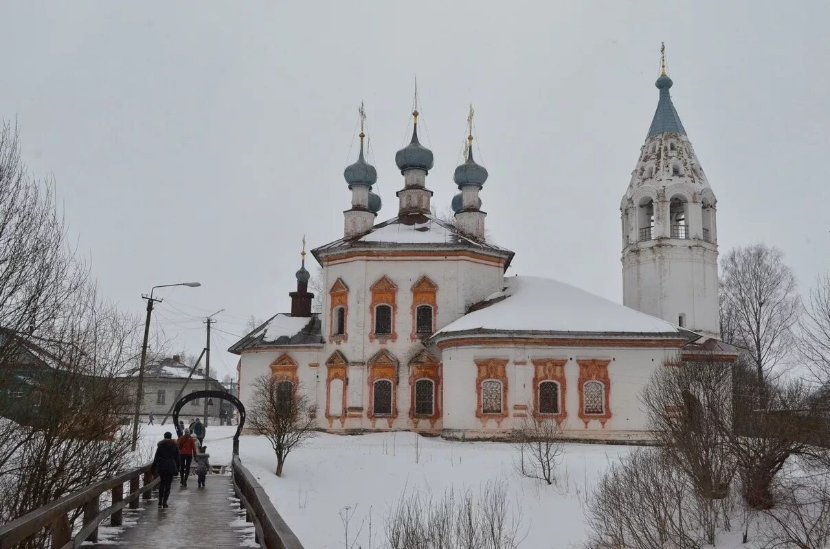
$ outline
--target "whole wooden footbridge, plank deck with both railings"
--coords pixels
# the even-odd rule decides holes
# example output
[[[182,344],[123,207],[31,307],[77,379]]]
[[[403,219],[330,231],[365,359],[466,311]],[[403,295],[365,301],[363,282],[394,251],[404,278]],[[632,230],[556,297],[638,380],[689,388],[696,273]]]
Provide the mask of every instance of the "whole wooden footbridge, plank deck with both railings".
[[[251,541],[265,549],[303,549],[238,455],[233,456],[231,474],[208,475],[206,488],[196,488],[196,479],[188,488],[174,481],[166,509],[157,506],[159,479],[150,474],[150,465],[92,484],[7,523],[0,527],[0,549],[72,549],[114,542],[135,549],[226,549],[243,542],[251,546]],[[121,528],[104,542],[99,527],[108,519],[109,526]],[[38,542],[44,539],[46,543]]]

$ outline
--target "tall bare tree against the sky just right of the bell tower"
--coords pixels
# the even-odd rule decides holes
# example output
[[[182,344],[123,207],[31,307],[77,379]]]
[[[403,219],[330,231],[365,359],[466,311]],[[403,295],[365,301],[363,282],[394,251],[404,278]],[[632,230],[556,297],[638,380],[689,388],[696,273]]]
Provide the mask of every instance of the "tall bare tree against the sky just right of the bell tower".
[[[781,250],[763,244],[730,250],[720,265],[722,335],[749,352],[763,390],[793,346],[801,310],[795,276]]]

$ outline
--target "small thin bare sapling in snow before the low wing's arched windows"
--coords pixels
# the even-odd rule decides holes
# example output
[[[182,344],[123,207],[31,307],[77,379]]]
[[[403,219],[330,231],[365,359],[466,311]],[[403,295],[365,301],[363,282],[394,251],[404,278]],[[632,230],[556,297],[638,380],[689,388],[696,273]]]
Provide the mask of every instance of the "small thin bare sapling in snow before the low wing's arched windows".
[[[564,426],[554,418],[537,414],[528,406],[527,415],[513,430],[514,445],[520,454],[516,466],[520,474],[553,484],[554,469],[564,453],[563,433]]]

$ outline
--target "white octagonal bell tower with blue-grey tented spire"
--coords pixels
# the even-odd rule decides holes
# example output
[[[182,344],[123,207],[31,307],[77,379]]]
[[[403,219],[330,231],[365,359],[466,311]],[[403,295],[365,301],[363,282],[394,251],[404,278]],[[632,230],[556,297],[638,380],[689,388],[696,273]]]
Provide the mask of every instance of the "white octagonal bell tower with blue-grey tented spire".
[[[623,196],[623,304],[717,338],[715,193],[669,90],[661,46],[657,111]]]

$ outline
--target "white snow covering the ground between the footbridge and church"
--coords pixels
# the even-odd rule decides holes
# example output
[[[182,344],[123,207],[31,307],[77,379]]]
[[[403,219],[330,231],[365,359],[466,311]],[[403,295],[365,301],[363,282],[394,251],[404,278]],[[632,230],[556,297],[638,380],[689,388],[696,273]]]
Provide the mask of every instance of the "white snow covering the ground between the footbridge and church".
[[[188,416],[182,418],[189,423]],[[154,446],[172,425],[144,426],[145,446]],[[207,452],[211,464],[230,464],[236,427],[207,428]],[[173,432],[173,437],[175,433]],[[415,441],[419,459],[416,463]],[[441,499],[449,490],[477,493],[489,480],[507,484],[511,507],[521,509],[523,532],[520,549],[579,547],[588,536],[583,504],[603,471],[632,448],[619,445],[565,445],[564,460],[557,469],[559,486],[526,479],[515,471],[517,453],[500,442],[451,442],[413,433],[370,435],[320,434],[295,449],[283,469],[274,474],[276,458],[262,437],[243,436],[242,462],[271,497],[277,511],[305,547],[343,547],[339,512],[355,508],[349,524],[350,538],[364,522],[359,544],[369,547],[369,510],[375,542],[383,539],[384,519],[402,494],[422,493]],[[210,477],[207,479],[210,488]],[[740,525],[721,537],[718,549],[747,549],[740,543]]]

